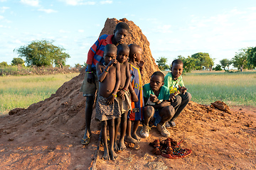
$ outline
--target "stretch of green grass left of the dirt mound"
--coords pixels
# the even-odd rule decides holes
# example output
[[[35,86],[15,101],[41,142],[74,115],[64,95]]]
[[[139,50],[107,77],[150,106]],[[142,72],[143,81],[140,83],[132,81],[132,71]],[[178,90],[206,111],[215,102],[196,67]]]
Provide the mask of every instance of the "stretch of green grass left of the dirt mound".
[[[65,81],[78,74],[0,77],[0,115],[9,113],[14,108],[27,108],[49,98]]]

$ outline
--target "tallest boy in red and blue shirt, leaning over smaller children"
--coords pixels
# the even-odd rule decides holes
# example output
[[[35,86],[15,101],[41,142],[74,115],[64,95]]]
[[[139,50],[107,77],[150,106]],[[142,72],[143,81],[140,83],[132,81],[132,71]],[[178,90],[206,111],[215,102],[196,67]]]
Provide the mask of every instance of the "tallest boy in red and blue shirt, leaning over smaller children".
[[[82,137],[82,145],[88,145],[92,132],[90,130],[90,123],[92,118],[92,106],[95,101],[95,92],[99,88],[99,81],[97,80],[96,67],[97,62],[103,63],[103,52],[105,45],[114,44],[119,45],[124,43],[129,33],[129,26],[127,23],[117,23],[114,29],[114,35],[102,35],[97,39],[94,45],[90,47],[87,55],[87,67],[85,69],[85,79],[82,82],[80,91],[86,97],[85,104],[85,135]]]

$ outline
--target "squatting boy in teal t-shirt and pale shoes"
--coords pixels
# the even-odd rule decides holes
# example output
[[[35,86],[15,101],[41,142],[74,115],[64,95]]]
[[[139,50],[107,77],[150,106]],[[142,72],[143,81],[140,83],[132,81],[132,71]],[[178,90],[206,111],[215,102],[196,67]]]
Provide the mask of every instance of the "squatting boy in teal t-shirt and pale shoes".
[[[150,83],[143,86],[144,95],[144,125],[140,132],[142,137],[149,137],[149,120],[155,118],[154,125],[164,137],[169,137],[165,123],[174,116],[174,107],[169,102],[169,89],[164,86],[164,74],[154,72]]]

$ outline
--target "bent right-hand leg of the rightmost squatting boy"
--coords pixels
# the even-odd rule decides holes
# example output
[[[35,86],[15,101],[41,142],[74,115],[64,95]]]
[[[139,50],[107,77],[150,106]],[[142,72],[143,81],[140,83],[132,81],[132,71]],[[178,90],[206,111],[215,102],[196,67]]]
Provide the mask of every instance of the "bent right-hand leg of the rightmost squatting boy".
[[[170,122],[174,122],[176,118],[178,118],[178,115],[183,111],[183,109],[186,107],[189,101],[191,101],[191,94],[186,92],[185,94],[178,94],[176,98],[181,98],[181,104],[175,109],[174,117],[171,118]],[[172,106],[172,104],[171,104]]]

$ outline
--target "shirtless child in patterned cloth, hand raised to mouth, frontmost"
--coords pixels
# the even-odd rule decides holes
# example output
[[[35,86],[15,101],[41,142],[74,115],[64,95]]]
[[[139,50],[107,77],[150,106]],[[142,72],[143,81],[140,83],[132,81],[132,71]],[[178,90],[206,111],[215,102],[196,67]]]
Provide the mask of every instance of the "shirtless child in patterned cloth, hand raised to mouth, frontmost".
[[[112,160],[117,158],[114,152],[114,119],[121,116],[117,101],[117,90],[120,86],[120,64],[117,62],[117,47],[106,45],[103,64],[96,64],[97,77],[100,81],[96,103],[96,116],[102,124],[102,140],[104,143],[103,158]],[[107,125],[110,132],[110,148],[107,145]],[[110,153],[110,154],[109,154]]]

